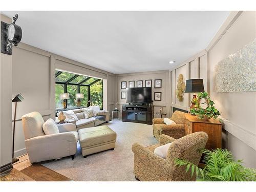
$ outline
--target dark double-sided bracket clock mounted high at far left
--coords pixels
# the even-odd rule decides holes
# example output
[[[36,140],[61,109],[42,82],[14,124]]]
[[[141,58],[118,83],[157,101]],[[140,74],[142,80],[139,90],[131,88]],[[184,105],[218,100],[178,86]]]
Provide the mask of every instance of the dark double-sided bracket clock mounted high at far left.
[[[11,55],[12,47],[22,40],[22,28],[15,24],[17,19],[18,14],[13,17],[11,24],[1,22],[1,53]]]

